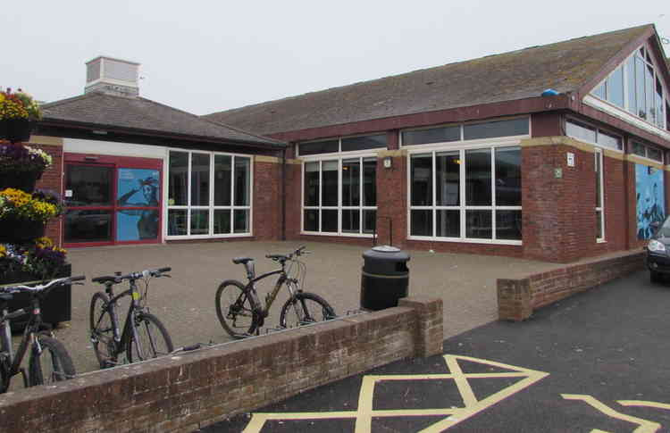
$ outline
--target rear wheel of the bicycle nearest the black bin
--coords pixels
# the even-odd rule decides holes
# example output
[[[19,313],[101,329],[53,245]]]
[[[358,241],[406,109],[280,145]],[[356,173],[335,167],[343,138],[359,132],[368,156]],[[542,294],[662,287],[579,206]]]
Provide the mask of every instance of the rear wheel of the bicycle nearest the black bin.
[[[223,281],[216,290],[216,315],[230,337],[244,338],[254,333],[258,323],[254,307],[254,301],[239,281]]]

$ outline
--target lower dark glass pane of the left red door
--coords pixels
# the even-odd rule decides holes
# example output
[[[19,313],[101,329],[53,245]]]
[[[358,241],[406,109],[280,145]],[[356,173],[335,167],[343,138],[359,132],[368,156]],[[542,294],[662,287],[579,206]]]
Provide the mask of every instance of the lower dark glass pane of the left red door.
[[[70,209],[65,213],[65,242],[111,242],[112,212]]]

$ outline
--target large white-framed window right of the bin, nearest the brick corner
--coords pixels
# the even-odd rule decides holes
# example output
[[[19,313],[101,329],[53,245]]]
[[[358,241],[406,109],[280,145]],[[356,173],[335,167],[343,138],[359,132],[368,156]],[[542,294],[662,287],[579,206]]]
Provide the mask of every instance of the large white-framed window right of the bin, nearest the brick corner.
[[[410,237],[521,243],[519,146],[412,153],[408,176]]]

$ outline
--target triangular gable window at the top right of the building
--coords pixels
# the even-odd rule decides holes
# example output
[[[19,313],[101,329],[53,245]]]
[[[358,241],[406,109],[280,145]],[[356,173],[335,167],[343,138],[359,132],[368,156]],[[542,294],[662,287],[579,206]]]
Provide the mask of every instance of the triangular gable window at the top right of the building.
[[[632,113],[661,129],[670,130],[670,103],[663,75],[641,47],[596,87],[593,95]]]

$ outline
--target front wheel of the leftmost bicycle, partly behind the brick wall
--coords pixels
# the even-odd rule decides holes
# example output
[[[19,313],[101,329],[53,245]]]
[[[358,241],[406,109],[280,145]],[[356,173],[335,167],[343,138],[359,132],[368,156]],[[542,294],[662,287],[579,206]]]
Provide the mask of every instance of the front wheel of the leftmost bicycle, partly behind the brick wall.
[[[72,359],[63,343],[40,334],[35,335],[35,343],[30,350],[28,371],[31,387],[72,379],[75,375]]]

